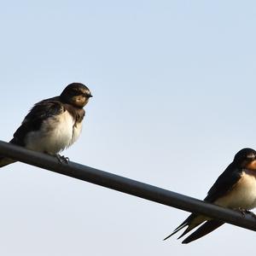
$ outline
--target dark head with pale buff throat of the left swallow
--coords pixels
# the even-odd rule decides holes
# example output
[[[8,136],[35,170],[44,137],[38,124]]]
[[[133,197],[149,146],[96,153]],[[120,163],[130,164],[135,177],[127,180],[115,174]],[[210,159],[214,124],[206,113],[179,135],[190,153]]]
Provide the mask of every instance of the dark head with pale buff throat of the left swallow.
[[[80,83],[68,84],[61,92],[61,100],[73,105],[76,108],[84,108],[92,97],[87,86]]]

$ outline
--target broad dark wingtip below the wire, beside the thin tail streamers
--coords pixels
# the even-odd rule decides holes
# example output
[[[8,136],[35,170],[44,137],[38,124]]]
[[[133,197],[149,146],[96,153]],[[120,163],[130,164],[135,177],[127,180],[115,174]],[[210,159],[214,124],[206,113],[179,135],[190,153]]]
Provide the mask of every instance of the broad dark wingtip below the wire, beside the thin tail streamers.
[[[182,243],[189,243],[190,241],[195,241],[196,239],[201,238],[202,236],[206,236],[213,230],[218,229],[224,222],[218,219],[210,219],[205,224],[202,224],[200,228],[195,230],[191,235],[189,235],[186,239],[183,240]]]

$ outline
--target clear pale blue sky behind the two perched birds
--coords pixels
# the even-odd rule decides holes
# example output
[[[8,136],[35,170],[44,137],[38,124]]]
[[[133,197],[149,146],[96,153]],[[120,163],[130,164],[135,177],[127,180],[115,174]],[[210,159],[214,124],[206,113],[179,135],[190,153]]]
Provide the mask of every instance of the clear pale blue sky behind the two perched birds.
[[[204,198],[256,148],[254,1],[2,1],[1,139],[33,103],[87,84],[71,160]],[[189,245],[162,239],[188,212],[15,163],[0,172],[1,255],[241,255],[225,224]],[[221,249],[220,249],[221,248]]]

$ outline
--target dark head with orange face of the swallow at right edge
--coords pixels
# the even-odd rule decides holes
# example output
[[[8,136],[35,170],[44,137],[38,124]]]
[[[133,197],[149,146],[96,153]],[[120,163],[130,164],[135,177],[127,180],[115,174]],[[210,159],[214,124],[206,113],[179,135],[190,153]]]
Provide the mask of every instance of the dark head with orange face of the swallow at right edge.
[[[253,148],[242,148],[236,153],[233,162],[241,168],[256,171],[256,151]]]

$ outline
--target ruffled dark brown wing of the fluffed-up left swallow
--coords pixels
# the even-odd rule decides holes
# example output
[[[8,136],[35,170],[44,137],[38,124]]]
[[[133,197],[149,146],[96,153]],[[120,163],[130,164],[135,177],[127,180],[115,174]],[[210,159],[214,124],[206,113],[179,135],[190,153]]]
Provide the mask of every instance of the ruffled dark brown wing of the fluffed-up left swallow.
[[[26,115],[20,127],[15,131],[10,143],[25,146],[24,139],[30,131],[38,131],[45,119],[65,111],[59,97],[50,98],[34,105]]]

